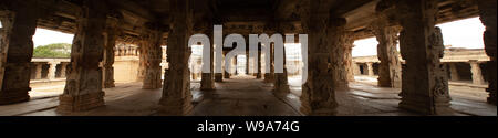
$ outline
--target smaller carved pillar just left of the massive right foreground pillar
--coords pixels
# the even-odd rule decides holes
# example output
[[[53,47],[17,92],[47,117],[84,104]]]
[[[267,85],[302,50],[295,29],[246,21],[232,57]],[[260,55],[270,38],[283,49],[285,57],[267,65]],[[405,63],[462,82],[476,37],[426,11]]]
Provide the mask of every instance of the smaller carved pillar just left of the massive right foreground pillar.
[[[385,14],[378,13],[377,18],[371,28],[378,42],[377,57],[381,61],[378,65],[378,86],[401,87],[401,62],[396,50],[400,29],[392,26]]]

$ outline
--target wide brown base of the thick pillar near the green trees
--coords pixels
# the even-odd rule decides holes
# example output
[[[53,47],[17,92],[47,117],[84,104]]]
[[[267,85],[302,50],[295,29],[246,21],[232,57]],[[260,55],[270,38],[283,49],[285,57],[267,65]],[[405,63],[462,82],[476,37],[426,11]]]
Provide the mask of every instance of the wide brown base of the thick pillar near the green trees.
[[[97,108],[105,105],[104,95],[104,92],[91,93],[80,96],[63,94],[59,96],[59,106],[56,110],[60,113],[73,113]]]

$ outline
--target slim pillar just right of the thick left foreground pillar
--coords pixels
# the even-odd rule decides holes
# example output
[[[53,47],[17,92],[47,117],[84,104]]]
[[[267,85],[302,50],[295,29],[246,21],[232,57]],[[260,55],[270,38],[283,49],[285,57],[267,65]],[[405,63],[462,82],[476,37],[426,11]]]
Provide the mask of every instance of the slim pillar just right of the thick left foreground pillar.
[[[116,39],[120,33],[120,17],[111,15],[107,19],[105,44],[104,44],[104,60],[102,61],[103,67],[103,87],[115,87],[114,84],[114,51],[116,46]]]

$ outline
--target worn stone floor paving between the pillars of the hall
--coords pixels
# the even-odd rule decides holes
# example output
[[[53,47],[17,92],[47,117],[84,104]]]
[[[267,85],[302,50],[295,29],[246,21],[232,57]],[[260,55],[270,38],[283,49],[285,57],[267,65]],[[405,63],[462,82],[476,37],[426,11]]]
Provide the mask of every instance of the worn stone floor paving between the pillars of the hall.
[[[397,108],[400,89],[380,88],[369,78],[356,78],[350,92],[336,92],[338,116],[416,116]],[[366,79],[366,81],[365,81]],[[191,116],[301,116],[299,112],[301,81],[290,77],[291,94],[279,97],[272,86],[252,76],[237,76],[217,83],[217,91],[200,92],[199,82],[191,83]],[[0,106],[0,116],[60,116],[55,113],[63,83],[37,87],[32,100]],[[162,89],[142,89],[141,83],[116,84],[106,88],[106,106],[66,116],[155,116]],[[452,108],[456,116],[497,116],[496,106],[486,104],[481,88],[450,86]]]

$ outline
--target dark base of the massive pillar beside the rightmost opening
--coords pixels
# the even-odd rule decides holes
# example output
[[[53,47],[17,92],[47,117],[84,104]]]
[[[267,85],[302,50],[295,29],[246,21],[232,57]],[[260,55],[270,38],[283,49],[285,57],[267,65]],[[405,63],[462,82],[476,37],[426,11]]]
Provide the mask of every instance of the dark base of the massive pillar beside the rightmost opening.
[[[449,107],[449,100],[447,102],[437,102],[434,105],[430,102],[425,100],[430,99],[428,97],[403,97],[402,102],[400,102],[400,108],[421,113],[424,115],[453,115],[454,110]]]

